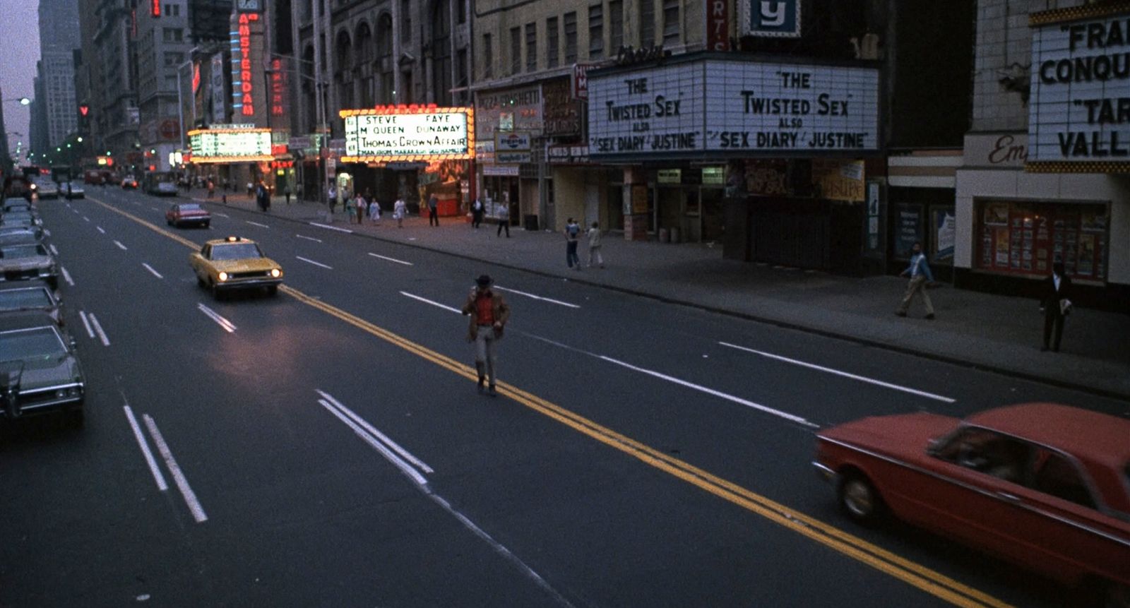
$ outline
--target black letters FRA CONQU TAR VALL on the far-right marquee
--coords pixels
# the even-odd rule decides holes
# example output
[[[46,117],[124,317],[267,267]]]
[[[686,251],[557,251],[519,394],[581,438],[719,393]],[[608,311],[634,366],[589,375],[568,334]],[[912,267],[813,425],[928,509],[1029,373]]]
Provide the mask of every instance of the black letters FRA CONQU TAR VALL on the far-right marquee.
[[[1123,94],[1130,85],[1130,19],[1084,23],[1059,26],[1068,36],[1068,52],[1080,47],[1088,51],[1102,50],[1103,54],[1090,57],[1048,59],[1040,62],[1038,78],[1042,87],[1070,86],[1072,82],[1121,81],[1116,90]],[[1107,85],[1111,87],[1111,85]],[[1110,88],[1107,88],[1110,90]],[[1059,148],[1063,158],[1102,158],[1130,156],[1130,141],[1120,140],[1116,130],[1104,133],[1101,125],[1130,123],[1130,96],[1096,96],[1071,98],[1076,108],[1085,112],[1087,124],[1096,125],[1093,131],[1063,131]],[[1104,137],[1105,136],[1105,137]]]

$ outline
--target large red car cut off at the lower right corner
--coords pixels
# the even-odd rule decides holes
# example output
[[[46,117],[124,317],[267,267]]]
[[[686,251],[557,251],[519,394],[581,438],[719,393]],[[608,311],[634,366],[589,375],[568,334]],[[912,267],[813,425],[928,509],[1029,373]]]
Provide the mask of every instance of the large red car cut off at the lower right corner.
[[[1130,420],[1055,403],[863,418],[818,433],[814,464],[853,520],[893,514],[1130,606]]]

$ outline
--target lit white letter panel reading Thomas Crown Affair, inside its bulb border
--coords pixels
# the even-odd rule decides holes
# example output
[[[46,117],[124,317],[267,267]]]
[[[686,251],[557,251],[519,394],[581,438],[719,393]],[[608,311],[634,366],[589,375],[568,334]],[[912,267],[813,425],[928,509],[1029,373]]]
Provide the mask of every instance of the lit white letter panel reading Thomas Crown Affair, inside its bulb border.
[[[462,113],[348,116],[346,149],[362,156],[463,154],[467,151],[466,116]]]

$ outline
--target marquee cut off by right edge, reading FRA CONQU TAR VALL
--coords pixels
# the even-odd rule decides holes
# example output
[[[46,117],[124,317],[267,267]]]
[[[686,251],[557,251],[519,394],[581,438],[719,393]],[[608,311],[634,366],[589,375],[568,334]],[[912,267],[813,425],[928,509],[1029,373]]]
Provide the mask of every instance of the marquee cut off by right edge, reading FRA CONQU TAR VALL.
[[[1029,25],[1025,168],[1130,173],[1130,15],[1088,5],[1035,12]]]

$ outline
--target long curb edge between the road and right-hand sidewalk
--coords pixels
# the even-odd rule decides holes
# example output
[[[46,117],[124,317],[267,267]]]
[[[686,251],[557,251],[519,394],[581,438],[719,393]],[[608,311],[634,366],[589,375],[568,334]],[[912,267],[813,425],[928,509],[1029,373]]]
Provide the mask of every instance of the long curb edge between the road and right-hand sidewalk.
[[[208,205],[218,205],[218,206],[221,206],[221,207],[227,208],[227,209],[235,209],[237,211],[244,211],[244,212],[255,214],[255,215],[260,214],[259,211],[254,211],[254,210],[251,210],[251,209],[243,209],[243,208],[240,208],[240,207],[232,207],[231,205],[224,205],[221,202],[212,202],[212,201],[208,201],[206,199],[192,199],[192,200],[195,200],[198,202],[205,202],[205,203],[208,203]],[[272,217],[278,218],[278,219],[284,219],[286,222],[292,222],[292,223],[295,223],[295,224],[303,224],[303,225],[306,225],[306,226],[311,225],[310,222],[304,220],[304,219],[297,219],[297,218],[292,218],[292,217],[284,217],[284,216],[279,216],[279,215],[275,215]],[[490,261],[490,260],[484,260],[481,258],[476,258],[473,255],[469,255],[469,254],[466,254],[466,253],[458,253],[458,252],[450,252],[450,251],[444,251],[444,250],[440,250],[440,249],[433,249],[433,247],[429,247],[429,246],[426,246],[426,245],[423,245],[423,244],[419,244],[419,243],[411,243],[411,242],[403,242],[403,241],[393,241],[393,240],[390,240],[390,238],[383,238],[383,237],[377,236],[377,235],[372,235],[372,234],[366,234],[366,233],[359,233],[359,232],[354,232],[354,231],[350,231],[348,233],[342,233],[342,234],[350,234],[350,235],[359,236],[359,237],[363,237],[363,238],[370,238],[370,240],[373,240],[373,241],[380,241],[382,243],[391,243],[391,244],[395,244],[395,245],[403,245],[403,246],[414,247],[414,249],[418,249],[418,250],[423,250],[423,251],[428,251],[428,252],[432,252],[432,253],[440,253],[440,254],[443,254],[443,255],[451,255],[453,258],[460,258],[460,259],[463,259],[463,260],[471,260],[471,261],[476,261],[476,262],[488,263],[490,266],[495,266],[495,267],[498,267],[498,268],[506,268],[506,269],[510,269],[510,270],[519,270],[521,272],[528,272],[530,275],[536,275],[536,276],[539,276],[539,277],[547,277],[547,278],[555,278],[555,279],[565,279],[565,280],[570,280],[570,281],[576,283],[579,285],[585,285],[585,286],[589,286],[589,287],[598,287],[598,288],[601,288],[601,289],[608,289],[610,292],[617,292],[617,293],[633,295],[633,296],[637,296],[637,297],[645,297],[645,298],[649,298],[649,299],[654,299],[654,301],[658,301],[658,302],[662,302],[664,304],[676,304],[676,305],[679,305],[679,306],[687,306],[687,307],[690,307],[690,309],[696,309],[696,310],[699,310],[699,311],[705,311],[705,312],[710,312],[710,313],[714,313],[714,314],[721,314],[721,315],[725,315],[725,316],[732,316],[734,319],[742,319],[745,321],[754,321],[754,322],[757,322],[757,323],[764,323],[764,324],[767,324],[767,325],[773,325],[773,327],[777,327],[777,328],[782,328],[782,329],[789,329],[789,330],[793,330],[793,331],[802,331],[805,333],[810,333],[810,335],[814,335],[814,336],[822,336],[822,337],[825,337],[825,338],[833,338],[833,339],[837,339],[837,340],[854,342],[854,344],[859,344],[859,345],[868,346],[868,347],[872,347],[872,348],[881,348],[884,350],[890,350],[890,351],[894,351],[894,353],[901,353],[903,355],[911,355],[911,356],[921,357],[921,358],[924,358],[924,359],[937,361],[937,362],[940,362],[940,363],[947,363],[947,364],[950,364],[950,365],[956,365],[958,367],[965,367],[967,370],[976,370],[976,371],[981,371],[981,372],[991,372],[991,373],[999,374],[999,375],[1007,376],[1007,377],[1014,377],[1014,379],[1024,380],[1024,381],[1027,381],[1027,382],[1037,382],[1037,383],[1041,383],[1041,384],[1049,384],[1049,385],[1057,386],[1057,388],[1060,388],[1060,389],[1068,389],[1068,390],[1079,391],[1079,392],[1084,392],[1084,393],[1087,393],[1087,394],[1093,394],[1093,396],[1096,396],[1096,397],[1104,397],[1104,398],[1107,398],[1107,399],[1115,399],[1115,400],[1119,400],[1119,401],[1130,401],[1130,392],[1120,392],[1120,391],[1112,391],[1112,390],[1109,390],[1109,389],[1099,389],[1099,388],[1095,388],[1095,386],[1090,386],[1090,385],[1086,385],[1086,384],[1079,384],[1079,383],[1075,383],[1075,382],[1070,382],[1070,381],[1066,381],[1066,380],[1059,380],[1059,379],[1054,379],[1054,377],[1041,376],[1041,375],[1033,374],[1033,373],[1029,373],[1029,372],[1023,372],[1023,371],[1018,371],[1018,370],[1011,370],[1011,368],[1002,367],[1002,366],[998,366],[998,365],[983,364],[983,363],[974,363],[974,362],[958,359],[956,357],[950,357],[950,356],[946,356],[946,355],[939,355],[937,353],[930,353],[930,351],[920,350],[920,349],[911,348],[911,347],[906,347],[906,346],[893,345],[893,344],[889,344],[889,342],[884,342],[884,341],[879,341],[879,340],[871,340],[871,339],[861,338],[861,337],[858,337],[858,336],[851,336],[851,335],[845,335],[845,333],[838,333],[838,332],[835,332],[835,331],[828,331],[828,330],[817,329],[817,328],[812,328],[812,327],[809,327],[809,325],[802,325],[802,324],[799,324],[799,323],[791,323],[791,322],[788,322],[788,321],[781,321],[781,320],[771,319],[771,318],[767,318],[767,316],[759,316],[759,315],[756,315],[756,314],[742,313],[742,312],[732,311],[732,310],[729,310],[729,309],[722,309],[722,307],[711,306],[709,304],[701,304],[701,303],[696,303],[696,302],[689,302],[689,301],[684,301],[684,299],[677,299],[677,298],[672,298],[672,297],[661,296],[661,295],[658,295],[658,294],[651,294],[651,293],[643,292],[643,290],[640,290],[640,289],[633,289],[631,287],[619,287],[619,286],[616,286],[616,285],[608,285],[608,284],[603,284],[603,283],[597,283],[597,281],[585,280],[585,279],[582,279],[582,278],[573,278],[571,276],[556,275],[556,273],[548,272],[548,271],[545,271],[545,270],[537,270],[537,269],[532,269],[532,268],[525,268],[525,267],[516,266],[516,264],[513,264],[513,263],[495,262],[495,261]]]

